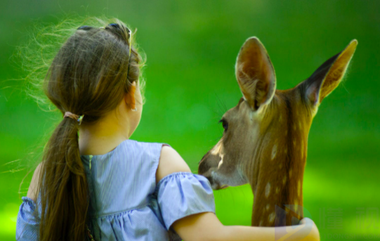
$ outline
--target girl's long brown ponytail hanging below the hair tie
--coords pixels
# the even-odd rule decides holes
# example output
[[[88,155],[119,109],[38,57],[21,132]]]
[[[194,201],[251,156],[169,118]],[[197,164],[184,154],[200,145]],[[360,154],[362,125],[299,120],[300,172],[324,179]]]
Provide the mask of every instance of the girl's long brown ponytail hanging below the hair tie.
[[[63,118],[55,128],[44,150],[39,183],[39,240],[83,241],[89,195],[76,120]]]

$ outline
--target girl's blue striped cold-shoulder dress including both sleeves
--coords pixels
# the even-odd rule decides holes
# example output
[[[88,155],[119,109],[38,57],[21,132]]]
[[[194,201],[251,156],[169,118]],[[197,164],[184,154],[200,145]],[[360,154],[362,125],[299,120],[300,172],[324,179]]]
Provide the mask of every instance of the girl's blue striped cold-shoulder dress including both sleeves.
[[[171,228],[174,221],[215,213],[214,194],[204,176],[176,172],[156,185],[162,145],[129,139],[105,155],[81,156],[91,197],[89,228],[96,241],[181,240]],[[22,197],[16,240],[38,240],[41,209],[36,208]]]

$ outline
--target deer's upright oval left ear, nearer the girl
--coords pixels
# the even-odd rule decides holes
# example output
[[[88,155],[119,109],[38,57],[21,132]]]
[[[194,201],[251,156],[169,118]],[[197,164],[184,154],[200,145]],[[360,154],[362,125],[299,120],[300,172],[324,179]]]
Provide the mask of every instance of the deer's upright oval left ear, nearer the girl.
[[[237,56],[235,74],[240,90],[251,108],[258,110],[270,103],[276,89],[276,77],[266,48],[256,37],[245,41]]]

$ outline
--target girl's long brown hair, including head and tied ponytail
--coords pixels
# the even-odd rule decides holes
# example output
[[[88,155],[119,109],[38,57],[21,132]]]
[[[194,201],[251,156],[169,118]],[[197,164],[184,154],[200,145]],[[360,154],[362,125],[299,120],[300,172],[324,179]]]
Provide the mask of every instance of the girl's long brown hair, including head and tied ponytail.
[[[117,108],[133,81],[138,83],[142,58],[132,47],[120,20],[112,25],[78,26],[48,68],[44,93],[64,114],[84,115],[90,124]],[[129,67],[129,74],[127,70]],[[79,154],[79,124],[63,118],[44,148],[39,175],[39,240],[83,241],[89,206],[88,183]]]

